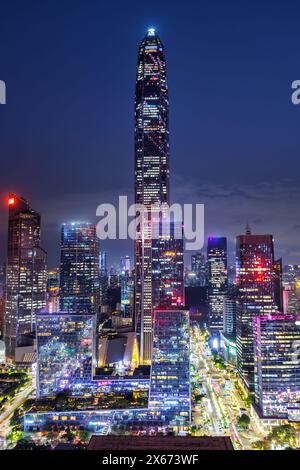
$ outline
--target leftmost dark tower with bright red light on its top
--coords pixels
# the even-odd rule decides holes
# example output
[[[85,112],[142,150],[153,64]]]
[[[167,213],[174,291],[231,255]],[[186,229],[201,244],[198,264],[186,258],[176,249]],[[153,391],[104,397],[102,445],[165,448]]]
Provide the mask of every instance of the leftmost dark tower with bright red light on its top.
[[[35,316],[46,306],[46,252],[40,247],[41,216],[15,195],[8,198],[8,253],[4,338],[6,353],[35,331]]]

